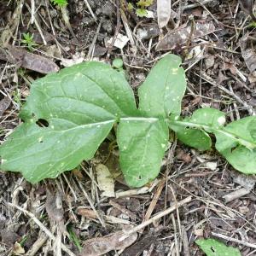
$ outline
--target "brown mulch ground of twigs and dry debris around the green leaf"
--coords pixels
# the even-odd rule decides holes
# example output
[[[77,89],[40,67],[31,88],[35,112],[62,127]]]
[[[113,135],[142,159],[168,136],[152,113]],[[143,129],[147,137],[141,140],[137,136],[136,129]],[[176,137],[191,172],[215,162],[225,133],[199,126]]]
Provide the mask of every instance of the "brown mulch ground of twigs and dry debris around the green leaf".
[[[35,1],[38,25],[31,24],[32,2],[0,1],[2,141],[20,123],[18,113],[32,80],[43,76],[24,68],[24,52],[20,59],[17,55],[12,59],[4,55],[14,52],[6,44],[27,50],[27,45],[21,43],[22,34],[27,32],[33,34],[36,44],[32,53],[46,56],[58,67],[69,65],[70,60],[72,64],[122,58],[135,91],[155,61],[172,49],[183,57],[188,77],[183,115],[208,106],[228,113],[233,120],[255,111],[255,32],[250,9],[242,9],[237,1],[214,0],[205,5],[172,1],[172,19],[161,32],[155,3],[149,7],[154,18],[139,18],[134,10],[125,9],[125,20],[115,2],[90,0],[90,13],[84,1],[69,1],[68,27],[61,10],[48,1]],[[213,30],[207,24],[212,24]],[[199,25],[201,33],[195,38],[192,33],[182,38],[184,28],[196,30]],[[174,29],[176,34],[158,44]],[[107,44],[118,33],[130,37],[123,49],[113,46],[115,38]],[[156,46],[162,50],[157,51]],[[40,66],[34,70],[38,68],[44,69]],[[214,149],[201,153],[174,140],[154,183],[143,189],[130,189],[122,177],[117,177],[117,196],[108,198],[97,189],[95,172],[95,166],[104,163],[109,153],[106,165],[112,172],[119,169],[118,152],[108,151],[104,144],[95,160],[34,186],[19,174],[0,172],[0,255],[58,255],[61,241],[78,255],[84,241],[141,224],[146,212],[148,215],[152,210],[153,216],[189,195],[192,201],[146,226],[131,247],[106,255],[202,255],[195,245],[198,237],[215,237],[238,247],[242,255],[256,255],[254,177],[243,177],[234,171]],[[244,189],[246,195],[241,193]],[[236,196],[230,194],[234,191]],[[35,224],[35,219],[40,220],[41,226]],[[55,241],[49,234],[44,235],[45,227]]]

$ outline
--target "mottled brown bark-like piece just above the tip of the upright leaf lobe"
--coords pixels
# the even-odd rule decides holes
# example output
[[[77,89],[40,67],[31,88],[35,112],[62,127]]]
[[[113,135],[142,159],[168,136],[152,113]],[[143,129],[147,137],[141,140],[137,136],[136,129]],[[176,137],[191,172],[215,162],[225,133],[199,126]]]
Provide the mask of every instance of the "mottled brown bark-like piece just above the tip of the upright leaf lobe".
[[[191,29],[193,29],[192,33]],[[207,23],[197,22],[194,27],[191,24],[186,27],[179,27],[176,30],[167,32],[166,36],[156,45],[156,50],[175,49],[177,46],[181,47],[188,40],[204,37],[215,30],[216,28],[212,21]]]

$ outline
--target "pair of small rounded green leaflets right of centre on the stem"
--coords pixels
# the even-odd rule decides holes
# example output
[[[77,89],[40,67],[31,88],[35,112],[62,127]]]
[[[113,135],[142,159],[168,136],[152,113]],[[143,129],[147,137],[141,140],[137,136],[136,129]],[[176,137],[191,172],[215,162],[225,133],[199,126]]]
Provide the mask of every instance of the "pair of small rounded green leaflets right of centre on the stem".
[[[212,129],[224,125],[224,122],[224,113],[214,108],[201,108],[196,110],[190,118],[177,122],[171,120],[169,126],[177,132],[178,140],[203,151],[212,147],[211,137],[206,131],[212,132]]]

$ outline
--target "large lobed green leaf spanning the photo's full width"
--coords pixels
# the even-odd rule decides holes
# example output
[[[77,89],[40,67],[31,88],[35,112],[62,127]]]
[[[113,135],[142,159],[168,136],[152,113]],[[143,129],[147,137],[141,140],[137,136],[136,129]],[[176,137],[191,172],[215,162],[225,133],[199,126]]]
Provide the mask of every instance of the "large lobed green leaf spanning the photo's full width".
[[[244,173],[256,173],[256,117],[224,125],[225,115],[201,108],[181,118],[185,73],[166,55],[138,90],[139,106],[123,73],[85,62],[38,79],[20,112],[24,123],[0,147],[2,169],[31,183],[57,177],[90,160],[117,124],[119,160],[126,182],[140,187],[160,172],[169,128],[191,147],[207,150],[215,135],[220,154]]]

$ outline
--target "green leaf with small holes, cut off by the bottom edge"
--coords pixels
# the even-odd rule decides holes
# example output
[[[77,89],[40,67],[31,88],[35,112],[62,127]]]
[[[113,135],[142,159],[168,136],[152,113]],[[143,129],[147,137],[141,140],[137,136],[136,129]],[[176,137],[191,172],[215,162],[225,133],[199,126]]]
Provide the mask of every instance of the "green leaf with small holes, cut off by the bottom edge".
[[[207,256],[241,256],[237,248],[227,247],[215,239],[199,239],[195,243]]]

